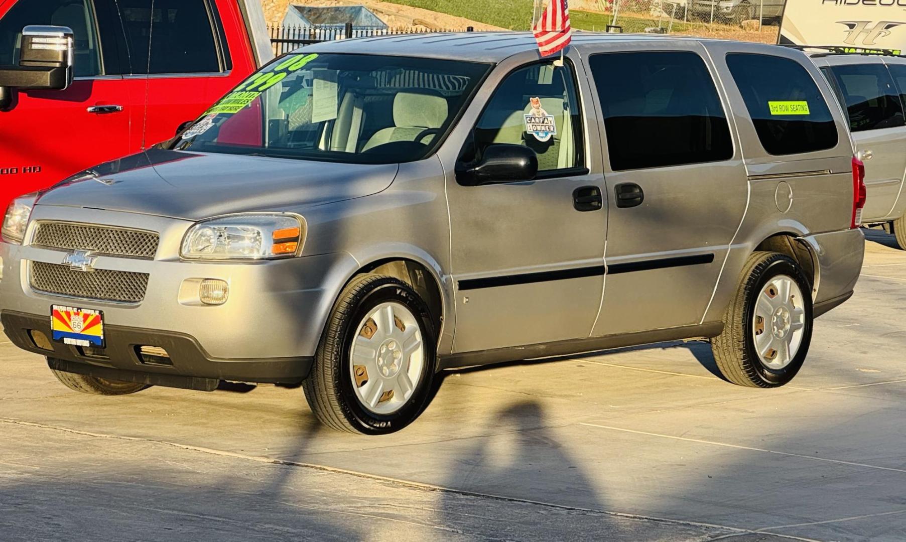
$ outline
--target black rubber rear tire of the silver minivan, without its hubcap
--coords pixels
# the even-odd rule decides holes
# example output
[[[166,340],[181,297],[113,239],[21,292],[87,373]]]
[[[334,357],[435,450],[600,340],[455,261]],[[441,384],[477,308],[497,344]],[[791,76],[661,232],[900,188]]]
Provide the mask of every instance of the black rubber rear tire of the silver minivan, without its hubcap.
[[[792,277],[803,294],[805,328],[802,343],[783,369],[771,369],[761,362],[755,350],[752,325],[754,303],[767,282],[778,275]],[[790,256],[776,252],[756,252],[743,267],[737,294],[724,315],[724,331],[711,339],[711,351],[718,370],[729,382],[740,386],[775,388],[793,380],[805,362],[812,342],[812,286],[802,267]]]

